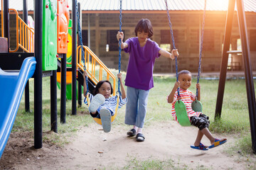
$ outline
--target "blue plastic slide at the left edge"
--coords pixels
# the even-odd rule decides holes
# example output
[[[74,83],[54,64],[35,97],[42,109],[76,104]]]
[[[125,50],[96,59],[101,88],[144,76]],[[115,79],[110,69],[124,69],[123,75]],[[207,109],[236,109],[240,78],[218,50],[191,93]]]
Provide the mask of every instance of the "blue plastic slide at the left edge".
[[[0,68],[0,158],[14,125],[26,82],[35,69],[35,57],[26,58],[20,72],[4,72]]]

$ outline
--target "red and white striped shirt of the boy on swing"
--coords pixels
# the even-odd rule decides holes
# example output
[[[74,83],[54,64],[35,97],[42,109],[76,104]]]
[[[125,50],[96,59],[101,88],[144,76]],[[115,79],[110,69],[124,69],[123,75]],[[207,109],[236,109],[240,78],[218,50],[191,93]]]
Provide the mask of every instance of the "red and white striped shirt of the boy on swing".
[[[186,111],[188,113],[188,118],[191,118],[192,116],[198,117],[199,115],[201,115],[201,112],[195,112],[195,111],[193,111],[193,109],[191,107],[192,102],[196,100],[195,94],[193,94],[190,90],[180,89],[180,96],[181,96],[181,101],[183,101],[186,105]],[[172,104],[171,115],[174,117],[174,120],[176,120],[178,122],[177,117],[176,117],[175,107],[174,107],[176,101],[178,101],[178,91],[175,92],[174,101],[171,103]]]

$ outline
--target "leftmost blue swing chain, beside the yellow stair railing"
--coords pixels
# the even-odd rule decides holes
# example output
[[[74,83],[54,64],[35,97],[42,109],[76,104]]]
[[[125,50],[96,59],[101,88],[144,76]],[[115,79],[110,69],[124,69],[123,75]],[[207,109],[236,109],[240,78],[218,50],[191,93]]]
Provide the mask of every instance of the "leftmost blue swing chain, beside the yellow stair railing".
[[[85,51],[83,49],[83,45],[82,45],[82,33],[81,33],[81,28],[80,28],[80,15],[78,12],[78,1],[75,0],[75,10],[76,10],[76,15],[78,18],[78,35],[79,35],[79,40],[80,40],[80,47],[82,48],[82,62],[83,62],[83,69],[84,72],[86,72],[86,67],[85,67]],[[89,86],[88,86],[88,78],[86,77],[86,87],[87,87],[87,91],[85,92],[85,95],[87,95],[87,93],[90,93],[89,91]]]

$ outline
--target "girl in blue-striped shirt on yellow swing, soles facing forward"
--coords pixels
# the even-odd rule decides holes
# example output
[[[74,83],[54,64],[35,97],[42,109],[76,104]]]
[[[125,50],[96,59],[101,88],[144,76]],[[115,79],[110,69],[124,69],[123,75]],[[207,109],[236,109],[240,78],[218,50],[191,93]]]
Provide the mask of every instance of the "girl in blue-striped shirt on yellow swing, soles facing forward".
[[[84,96],[85,96],[85,104],[88,106],[87,101],[87,85],[86,85],[86,77],[87,72],[85,71],[82,74],[82,77],[84,79]],[[127,97],[124,90],[124,85],[122,84],[122,74],[117,74],[117,77],[120,80],[120,86],[121,86],[121,94],[119,96],[119,106],[118,108],[121,108],[124,106],[125,103],[127,103]],[[115,108],[117,107],[117,98],[118,96],[110,96],[113,93],[112,85],[110,81],[102,80],[99,81],[95,87],[95,90],[92,92],[92,94],[88,93],[89,100],[90,100],[90,106],[89,111],[92,118],[100,118],[102,121],[102,128],[104,132],[110,132],[111,130],[111,116],[113,116],[115,113]]]

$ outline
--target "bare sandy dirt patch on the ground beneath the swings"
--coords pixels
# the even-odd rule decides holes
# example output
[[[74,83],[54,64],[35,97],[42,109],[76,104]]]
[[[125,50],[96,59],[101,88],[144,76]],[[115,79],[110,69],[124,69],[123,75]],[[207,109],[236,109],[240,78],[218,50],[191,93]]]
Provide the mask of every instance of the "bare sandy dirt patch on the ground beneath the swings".
[[[228,137],[225,145],[199,151],[190,145],[196,137],[194,127],[181,127],[175,122],[145,126],[145,142],[136,142],[127,137],[129,130],[124,125],[113,125],[111,132],[104,133],[92,123],[73,137],[69,145],[58,147],[48,142],[42,149],[33,149],[33,135],[29,132],[13,132],[9,137],[4,154],[0,159],[1,169],[122,169],[127,162],[136,158],[145,160],[174,160],[174,164],[186,164],[197,169],[247,169],[246,159],[229,156],[223,150],[233,145],[234,138]],[[44,134],[46,135],[46,134]],[[216,135],[218,137],[224,137]],[[209,145],[206,138],[202,141]],[[250,158],[255,164],[254,155]],[[182,166],[181,166],[182,167]]]

